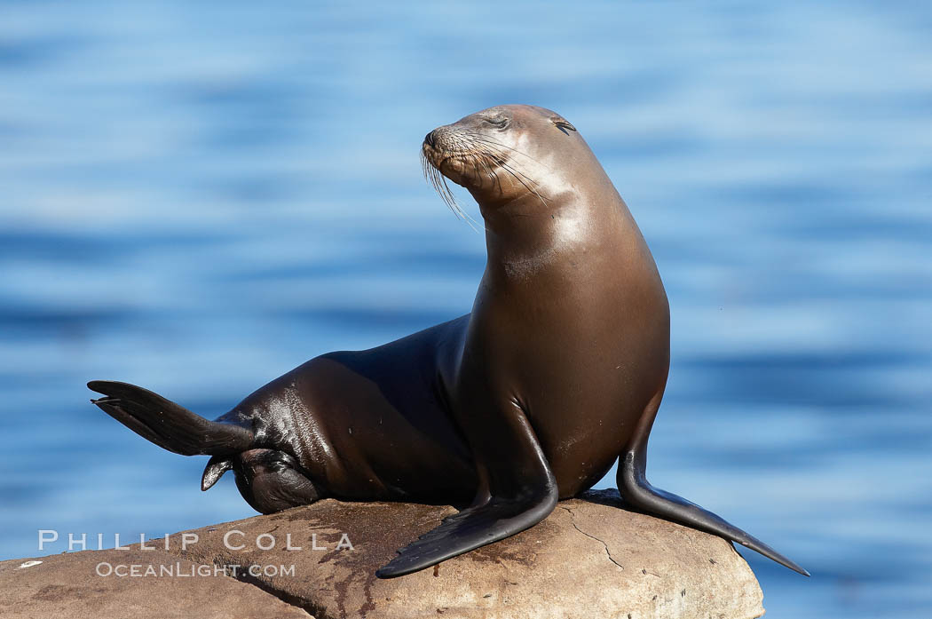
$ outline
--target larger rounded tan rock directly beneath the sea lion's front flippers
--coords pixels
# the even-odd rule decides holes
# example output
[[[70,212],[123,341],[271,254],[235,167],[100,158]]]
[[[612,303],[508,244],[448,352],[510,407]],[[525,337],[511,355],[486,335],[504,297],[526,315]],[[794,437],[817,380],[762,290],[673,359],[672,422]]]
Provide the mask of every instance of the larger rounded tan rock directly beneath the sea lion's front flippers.
[[[452,508],[325,500],[195,530],[198,543],[184,551],[180,542],[171,543],[169,552],[197,563],[294,565],[294,574],[279,571],[256,580],[276,595],[303,600],[297,603],[318,619],[763,614],[761,587],[731,543],[619,509],[617,497],[610,490],[560,502],[536,527],[391,580],[377,579],[376,569]],[[229,531],[241,534],[231,533],[225,544]],[[337,547],[342,534],[352,549]],[[312,548],[313,539],[322,549]],[[273,540],[274,548],[259,547]],[[301,550],[287,550],[289,540]],[[240,545],[245,547],[227,547]]]

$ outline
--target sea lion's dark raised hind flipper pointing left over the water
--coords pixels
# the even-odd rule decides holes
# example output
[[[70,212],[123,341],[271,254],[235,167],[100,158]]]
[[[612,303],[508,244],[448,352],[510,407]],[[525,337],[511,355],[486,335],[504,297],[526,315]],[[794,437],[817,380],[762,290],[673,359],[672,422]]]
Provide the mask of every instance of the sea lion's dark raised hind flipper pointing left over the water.
[[[206,420],[142,387],[113,380],[91,380],[88,388],[103,393],[103,398],[91,400],[91,403],[104,413],[158,447],[174,453],[223,456],[239,453],[253,445],[254,435],[250,429]]]

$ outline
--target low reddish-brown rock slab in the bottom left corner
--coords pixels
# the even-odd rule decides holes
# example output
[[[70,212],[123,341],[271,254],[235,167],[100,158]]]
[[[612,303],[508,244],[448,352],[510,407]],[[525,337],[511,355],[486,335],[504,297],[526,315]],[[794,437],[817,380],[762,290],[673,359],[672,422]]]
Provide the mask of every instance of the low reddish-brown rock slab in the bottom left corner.
[[[171,576],[100,575],[152,567]],[[102,566],[99,568],[99,566]],[[307,612],[229,576],[191,576],[191,561],[158,550],[88,550],[0,562],[0,616],[95,619],[307,619]],[[129,572],[128,572],[129,573]],[[179,576],[185,573],[187,576]]]

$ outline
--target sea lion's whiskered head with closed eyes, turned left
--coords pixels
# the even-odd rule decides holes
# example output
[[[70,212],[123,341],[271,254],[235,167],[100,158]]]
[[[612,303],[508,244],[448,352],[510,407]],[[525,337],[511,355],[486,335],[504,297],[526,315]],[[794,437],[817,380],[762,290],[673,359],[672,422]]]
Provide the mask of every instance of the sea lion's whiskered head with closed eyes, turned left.
[[[572,186],[574,162],[595,160],[566,118],[534,105],[497,105],[438,127],[421,152],[425,174],[451,207],[444,177],[466,187],[484,214],[516,199],[546,203]]]

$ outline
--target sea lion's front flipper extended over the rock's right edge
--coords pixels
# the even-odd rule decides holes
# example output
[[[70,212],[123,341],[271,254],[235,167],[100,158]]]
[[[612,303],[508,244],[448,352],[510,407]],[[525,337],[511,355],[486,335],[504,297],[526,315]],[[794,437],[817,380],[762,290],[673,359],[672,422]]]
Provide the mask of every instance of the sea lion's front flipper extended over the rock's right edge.
[[[618,491],[624,502],[642,509],[655,516],[661,516],[674,522],[684,524],[692,529],[704,530],[719,535],[726,540],[740,543],[764,557],[776,561],[792,571],[809,576],[799,564],[761,542],[745,530],[738,529],[721,516],[709,512],[694,502],[660,488],[654,488],[647,481],[644,469],[646,459],[639,459],[634,452],[623,454],[618,466]]]

